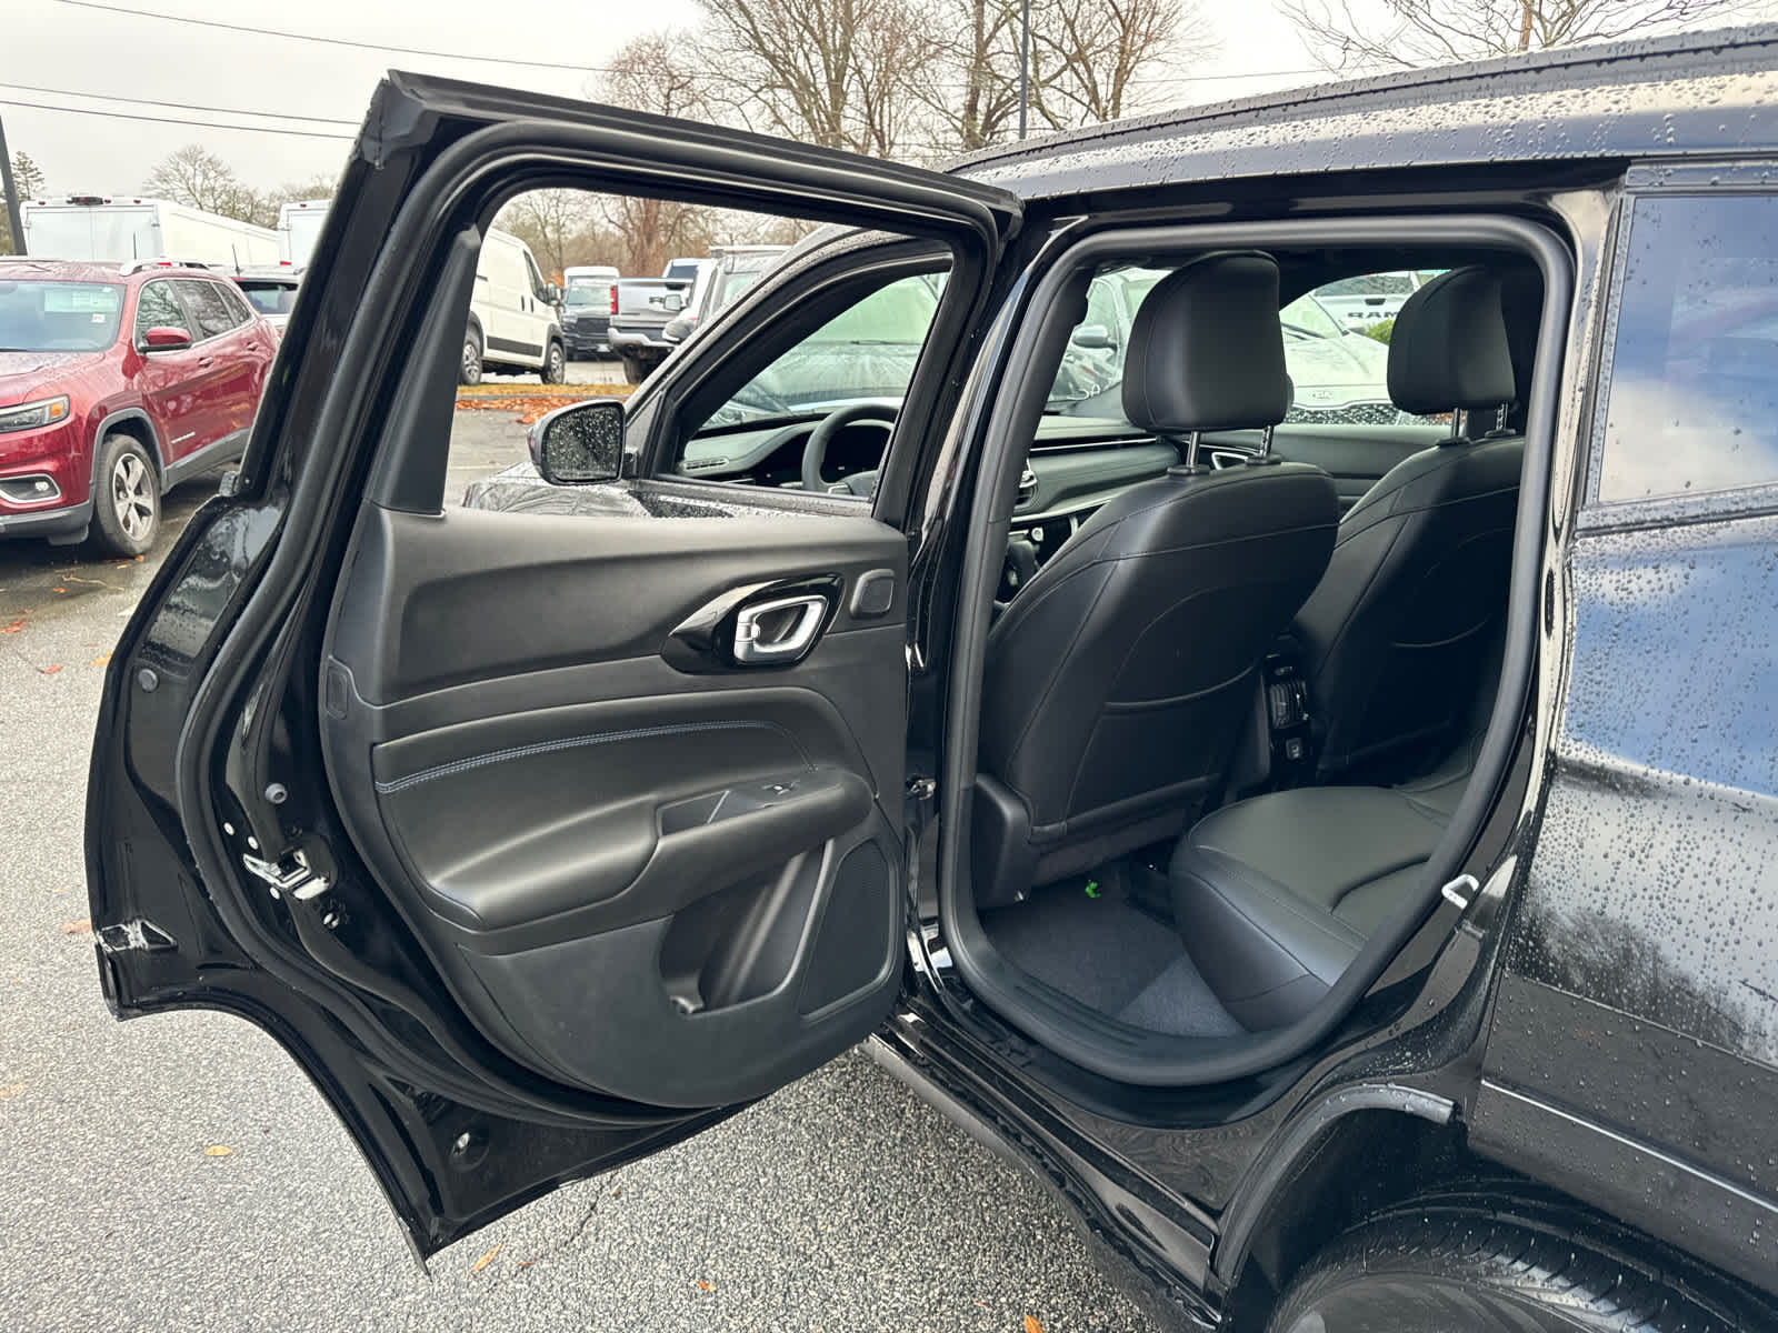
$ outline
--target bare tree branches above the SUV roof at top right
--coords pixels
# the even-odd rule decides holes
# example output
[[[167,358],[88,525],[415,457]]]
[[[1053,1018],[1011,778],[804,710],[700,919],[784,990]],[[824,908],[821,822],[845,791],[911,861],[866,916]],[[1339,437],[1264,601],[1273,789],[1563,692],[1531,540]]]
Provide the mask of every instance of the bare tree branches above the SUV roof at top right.
[[[1540,52],[1586,41],[1732,21],[1758,0],[1282,0],[1316,60],[1390,69]]]

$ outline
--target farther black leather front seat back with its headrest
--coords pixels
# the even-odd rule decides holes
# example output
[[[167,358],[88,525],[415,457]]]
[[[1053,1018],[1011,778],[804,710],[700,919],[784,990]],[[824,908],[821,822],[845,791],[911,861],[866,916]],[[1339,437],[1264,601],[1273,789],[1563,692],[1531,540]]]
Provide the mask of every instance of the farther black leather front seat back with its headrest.
[[[1524,439],[1486,430],[1515,396],[1501,279],[1453,268],[1396,316],[1389,396],[1453,414],[1346,514],[1296,617],[1323,780],[1399,782],[1460,739],[1506,613]],[[1463,418],[1458,418],[1458,412]]]

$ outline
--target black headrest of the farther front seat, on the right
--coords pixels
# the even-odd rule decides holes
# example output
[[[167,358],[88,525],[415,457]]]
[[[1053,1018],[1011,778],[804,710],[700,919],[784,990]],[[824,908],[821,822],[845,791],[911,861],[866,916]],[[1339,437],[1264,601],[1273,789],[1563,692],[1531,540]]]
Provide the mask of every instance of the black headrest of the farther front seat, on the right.
[[[1417,416],[1513,400],[1499,274],[1453,268],[1403,302],[1389,334],[1389,398]]]

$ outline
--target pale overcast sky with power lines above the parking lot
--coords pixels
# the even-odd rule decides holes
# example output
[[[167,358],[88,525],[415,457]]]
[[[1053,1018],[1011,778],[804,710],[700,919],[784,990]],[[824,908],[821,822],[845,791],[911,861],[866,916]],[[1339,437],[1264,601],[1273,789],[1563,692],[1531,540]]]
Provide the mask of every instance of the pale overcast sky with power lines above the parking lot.
[[[599,66],[631,37],[690,27],[693,0],[107,0],[96,9],[69,0],[0,0],[0,116],[12,151],[23,149],[43,167],[55,194],[139,190],[148,169],[188,142],[201,142],[256,187],[334,172],[350,135],[364,116],[370,92],[386,69],[471,78],[564,96],[596,94],[583,71],[544,69],[503,60]],[[1294,28],[1269,0],[1209,5],[1220,20],[1221,55],[1214,68],[1177,68],[1184,82],[1177,101],[1213,101],[1273,87],[1314,82],[1312,60]],[[119,12],[133,11],[133,12]],[[231,23],[254,32],[229,32],[164,16]],[[391,50],[357,50],[318,41],[267,36],[263,28],[354,43],[473,53],[437,59]],[[491,59],[500,57],[500,59]],[[1291,71],[1266,75],[1264,71]],[[1248,78],[1259,73],[1261,76]],[[1188,75],[1200,75],[1184,78]],[[1216,75],[1218,78],[1202,78]],[[1229,78],[1241,75],[1241,78]],[[292,130],[318,130],[341,139],[311,139],[192,124],[160,124],[41,110],[9,103],[85,107],[156,117],[233,121],[206,110],[167,105],[123,105],[62,94],[110,92],[188,107],[226,107],[345,121],[256,121]]]

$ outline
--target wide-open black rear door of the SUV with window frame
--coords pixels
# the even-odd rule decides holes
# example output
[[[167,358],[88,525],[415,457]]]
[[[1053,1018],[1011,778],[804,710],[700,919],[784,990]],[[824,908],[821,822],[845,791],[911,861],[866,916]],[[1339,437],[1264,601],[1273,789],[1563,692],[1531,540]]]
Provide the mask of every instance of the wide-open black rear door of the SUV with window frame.
[[[87,851],[114,1008],[272,1033],[423,1253],[830,1059],[905,954],[893,499],[649,499],[676,402],[651,386],[608,517],[441,503],[477,243],[539,185],[946,249],[880,498],[907,494],[1019,220],[967,181],[709,126],[379,91],[244,471],[114,654]],[[677,382],[745,354],[745,327],[709,334]]]

